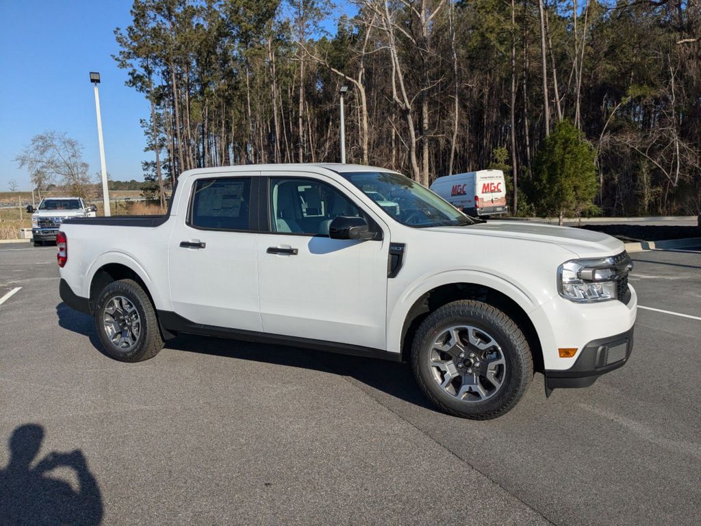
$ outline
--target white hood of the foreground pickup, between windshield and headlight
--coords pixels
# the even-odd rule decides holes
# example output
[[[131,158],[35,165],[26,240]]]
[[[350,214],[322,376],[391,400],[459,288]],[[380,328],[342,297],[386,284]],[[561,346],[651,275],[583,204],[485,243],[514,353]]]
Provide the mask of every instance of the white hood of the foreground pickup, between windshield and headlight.
[[[469,227],[435,227],[427,230],[554,243],[579,257],[610,256],[625,249],[622,241],[601,232],[531,222],[489,221]]]

